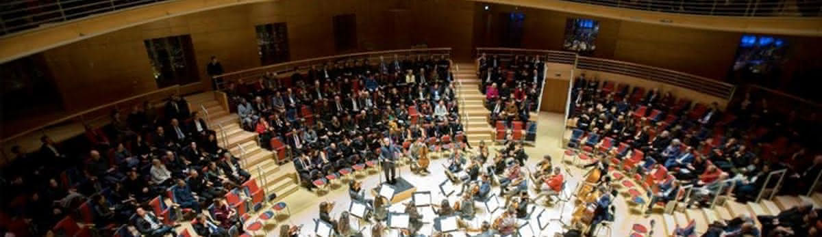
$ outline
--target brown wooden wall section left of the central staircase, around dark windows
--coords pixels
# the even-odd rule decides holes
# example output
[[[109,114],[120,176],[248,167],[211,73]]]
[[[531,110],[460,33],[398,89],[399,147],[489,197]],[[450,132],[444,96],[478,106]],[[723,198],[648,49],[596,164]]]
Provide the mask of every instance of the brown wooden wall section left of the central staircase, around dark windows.
[[[157,89],[143,40],[190,34],[203,88],[205,64],[217,56],[225,71],[260,66],[256,25],[285,22],[291,60],[335,55],[332,17],[356,14],[353,51],[473,45],[473,2],[423,0],[283,0],[201,11],[101,34],[44,52],[67,112]],[[391,20],[393,17],[394,20]],[[95,89],[95,93],[85,93]]]

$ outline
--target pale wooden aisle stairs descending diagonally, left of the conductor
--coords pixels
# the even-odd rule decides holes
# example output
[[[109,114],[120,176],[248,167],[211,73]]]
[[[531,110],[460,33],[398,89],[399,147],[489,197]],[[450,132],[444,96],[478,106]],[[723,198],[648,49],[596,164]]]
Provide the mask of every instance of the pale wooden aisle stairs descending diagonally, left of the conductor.
[[[215,130],[219,146],[240,157],[240,165],[266,190],[266,195],[277,194],[276,201],[296,192],[299,185],[293,169],[281,169],[275,153],[261,148],[255,133],[242,130],[239,116],[229,113],[227,104],[220,103],[220,98],[219,92],[210,91],[187,96],[186,100],[189,109],[198,112],[209,129]]]

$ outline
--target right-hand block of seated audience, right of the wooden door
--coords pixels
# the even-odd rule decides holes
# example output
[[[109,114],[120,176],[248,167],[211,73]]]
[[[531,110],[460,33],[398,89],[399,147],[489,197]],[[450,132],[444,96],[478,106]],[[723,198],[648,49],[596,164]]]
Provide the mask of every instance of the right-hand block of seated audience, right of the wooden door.
[[[746,95],[723,110],[580,75],[565,157],[603,165],[632,211],[662,209],[663,223],[637,223],[632,236],[806,236],[800,232],[815,228],[772,220],[820,221],[813,209],[822,207],[814,118],[775,114],[764,99],[756,101]]]

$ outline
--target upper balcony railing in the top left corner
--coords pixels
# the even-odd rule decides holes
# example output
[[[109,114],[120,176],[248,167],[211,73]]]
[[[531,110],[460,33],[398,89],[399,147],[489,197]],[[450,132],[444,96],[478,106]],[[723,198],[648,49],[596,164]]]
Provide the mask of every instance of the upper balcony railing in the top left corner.
[[[0,2],[0,35],[109,11],[174,0],[11,0]]]

